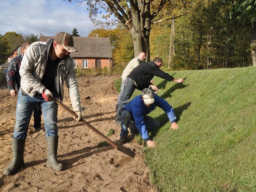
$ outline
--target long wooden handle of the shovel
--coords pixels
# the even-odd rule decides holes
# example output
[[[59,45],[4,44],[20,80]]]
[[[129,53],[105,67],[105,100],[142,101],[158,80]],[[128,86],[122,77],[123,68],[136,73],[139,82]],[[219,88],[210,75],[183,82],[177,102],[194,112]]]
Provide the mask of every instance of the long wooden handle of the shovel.
[[[67,112],[69,112],[72,116],[76,116],[78,117],[78,115],[72,111],[70,108],[68,108],[66,105],[64,105],[62,102],[60,102],[59,100],[57,100],[56,98],[52,98],[58,105],[60,105],[62,108],[64,108]],[[114,142],[112,142],[109,138],[107,138],[106,136],[104,136],[104,134],[102,134],[101,132],[99,132],[96,128],[94,128],[92,125],[90,125],[88,122],[86,122],[85,120],[83,120],[83,118],[81,118],[80,122],[82,122],[84,125],[88,126],[91,130],[93,130],[94,132],[96,132],[96,134],[98,134],[99,136],[101,136],[106,142],[108,142],[110,145],[112,145],[114,148],[119,148]]]

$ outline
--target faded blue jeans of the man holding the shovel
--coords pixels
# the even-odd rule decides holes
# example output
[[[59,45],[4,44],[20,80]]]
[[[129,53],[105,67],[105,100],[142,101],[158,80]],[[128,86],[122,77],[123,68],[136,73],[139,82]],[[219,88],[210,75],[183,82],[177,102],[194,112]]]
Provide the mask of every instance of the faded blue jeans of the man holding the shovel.
[[[13,132],[13,138],[23,139],[28,134],[28,125],[36,105],[40,103],[42,106],[42,114],[44,119],[45,136],[57,136],[57,114],[58,104],[54,101],[46,101],[42,94],[36,94],[34,97],[22,95],[19,91],[16,107],[16,123]]]

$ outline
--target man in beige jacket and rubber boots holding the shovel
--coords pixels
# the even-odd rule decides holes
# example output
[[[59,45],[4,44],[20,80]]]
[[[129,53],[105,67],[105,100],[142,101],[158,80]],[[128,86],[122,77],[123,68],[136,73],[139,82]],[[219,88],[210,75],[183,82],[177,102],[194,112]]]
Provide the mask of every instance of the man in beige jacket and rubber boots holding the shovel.
[[[74,61],[70,52],[73,38],[66,32],[57,33],[47,42],[34,42],[26,50],[20,65],[20,90],[16,106],[16,124],[12,135],[13,160],[4,170],[4,175],[16,173],[24,166],[24,148],[32,112],[39,103],[42,106],[47,146],[46,166],[55,171],[64,169],[58,162],[58,104],[52,97],[63,101],[64,82],[68,87],[73,111],[78,122],[82,118],[80,94],[76,81]]]

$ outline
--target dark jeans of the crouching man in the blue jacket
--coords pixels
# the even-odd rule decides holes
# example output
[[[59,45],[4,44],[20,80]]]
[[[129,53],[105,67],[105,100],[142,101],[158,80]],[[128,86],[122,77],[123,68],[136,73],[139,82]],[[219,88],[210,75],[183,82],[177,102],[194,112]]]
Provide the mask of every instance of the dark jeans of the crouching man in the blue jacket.
[[[127,110],[122,110],[122,115],[121,115],[121,133],[120,133],[120,137],[124,137],[127,138],[128,136],[128,127],[131,123],[131,121],[134,121],[134,118],[132,116],[132,114],[130,112],[128,112]],[[146,126],[147,130],[150,129],[156,129],[160,127],[160,122],[158,120],[155,120],[154,118],[150,117],[150,116],[144,116],[144,123]],[[138,129],[138,128],[137,128]],[[140,130],[138,130],[140,132]]]

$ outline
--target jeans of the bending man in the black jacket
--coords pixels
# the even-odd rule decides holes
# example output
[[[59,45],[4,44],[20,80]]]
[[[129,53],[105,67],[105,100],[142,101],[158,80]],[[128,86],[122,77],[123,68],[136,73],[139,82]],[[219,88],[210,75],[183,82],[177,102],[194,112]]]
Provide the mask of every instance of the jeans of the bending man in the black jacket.
[[[124,92],[120,103],[118,104],[118,108],[116,111],[116,121],[121,120],[121,112],[123,106],[125,106],[128,100],[132,97],[134,90],[136,89],[136,85],[130,78],[126,78]]]

